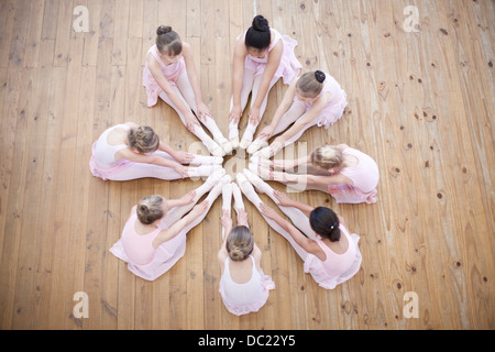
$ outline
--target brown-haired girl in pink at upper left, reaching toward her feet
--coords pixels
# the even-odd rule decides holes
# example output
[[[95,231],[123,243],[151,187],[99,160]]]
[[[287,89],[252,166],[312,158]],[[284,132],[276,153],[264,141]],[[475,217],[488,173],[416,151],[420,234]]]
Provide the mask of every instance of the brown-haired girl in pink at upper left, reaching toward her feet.
[[[147,106],[153,107],[158,97],[162,98],[177,111],[180,121],[212,155],[230,153],[231,143],[220,132],[211,111],[202,101],[190,45],[182,42],[170,26],[161,25],[156,34],[156,44],[147,52],[143,72]],[[215,141],[200,127],[198,119],[211,132]]]

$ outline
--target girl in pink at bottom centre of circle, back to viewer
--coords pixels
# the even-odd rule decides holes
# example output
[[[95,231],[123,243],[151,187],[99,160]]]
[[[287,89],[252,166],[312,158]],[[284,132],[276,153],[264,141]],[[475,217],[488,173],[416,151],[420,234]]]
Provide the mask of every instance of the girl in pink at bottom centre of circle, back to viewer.
[[[226,194],[228,195],[226,197]],[[232,228],[230,197],[234,195],[238,226]],[[222,230],[228,234],[218,253],[221,268],[219,292],[226,308],[235,316],[258,311],[275,288],[272,278],[261,268],[262,252],[254,243],[242,204],[241,191],[235,184],[223,186]]]

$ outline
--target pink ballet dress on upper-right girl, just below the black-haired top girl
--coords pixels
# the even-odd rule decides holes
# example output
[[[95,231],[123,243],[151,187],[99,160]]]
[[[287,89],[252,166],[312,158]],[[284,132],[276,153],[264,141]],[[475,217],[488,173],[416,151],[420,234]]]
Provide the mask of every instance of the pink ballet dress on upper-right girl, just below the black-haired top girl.
[[[324,125],[328,129],[330,125],[333,125],[340,118],[342,118],[343,111],[348,106],[345,91],[340,87],[339,82],[330,76],[329,74],[324,74],[326,78],[323,81],[323,89],[318,95],[321,96],[326,92],[330,92],[332,100],[323,108],[320,114],[316,118],[317,124],[319,128]],[[315,101],[318,97],[316,97],[312,101]],[[294,98],[296,99],[296,98]],[[312,107],[311,102],[306,102],[306,112]]]

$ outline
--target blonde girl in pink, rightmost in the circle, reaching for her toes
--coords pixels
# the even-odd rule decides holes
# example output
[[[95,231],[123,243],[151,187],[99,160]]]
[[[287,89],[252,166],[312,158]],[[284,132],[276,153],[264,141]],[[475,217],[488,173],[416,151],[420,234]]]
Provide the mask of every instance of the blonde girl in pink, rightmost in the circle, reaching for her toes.
[[[309,164],[309,166],[308,166]],[[297,185],[305,189],[321,190],[330,194],[338,204],[375,204],[380,172],[376,162],[369,155],[345,144],[318,147],[310,155],[296,161],[273,161],[274,168],[285,170],[305,165],[308,174],[296,175],[287,172],[268,172],[256,167],[263,178]]]

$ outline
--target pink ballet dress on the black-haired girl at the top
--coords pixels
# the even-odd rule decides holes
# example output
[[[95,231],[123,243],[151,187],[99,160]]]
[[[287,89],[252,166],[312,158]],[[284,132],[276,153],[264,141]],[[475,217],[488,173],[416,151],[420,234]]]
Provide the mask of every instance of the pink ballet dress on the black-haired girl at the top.
[[[268,63],[270,52],[274,48],[274,46],[282,40],[284,44],[284,52],[282,54],[280,64],[278,65],[277,70],[275,72],[274,79],[278,80],[279,78],[284,79],[285,85],[289,85],[294,78],[299,74],[300,68],[302,67],[294,54],[294,48],[297,46],[297,41],[293,40],[288,35],[282,35],[278,31],[271,29],[272,35],[274,36],[272,40],[272,44],[268,47],[268,53],[266,53],[265,57],[257,58],[252,55],[246,55],[245,57],[245,68],[253,70],[254,76],[261,76],[265,72],[266,64]],[[248,31],[246,31],[248,32]],[[244,42],[245,42],[245,33],[244,32]],[[240,36],[239,36],[240,37]],[[238,37],[238,40],[239,40]]]

